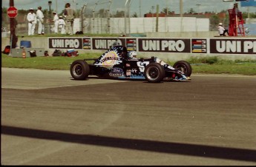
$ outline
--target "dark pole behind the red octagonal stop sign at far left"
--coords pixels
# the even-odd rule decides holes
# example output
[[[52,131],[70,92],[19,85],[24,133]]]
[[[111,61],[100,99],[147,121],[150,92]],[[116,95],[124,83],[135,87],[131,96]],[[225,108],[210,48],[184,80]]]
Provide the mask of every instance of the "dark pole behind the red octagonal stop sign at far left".
[[[14,0],[10,0],[10,7],[14,7]],[[15,34],[16,18],[10,18],[10,47],[16,48],[18,37]]]

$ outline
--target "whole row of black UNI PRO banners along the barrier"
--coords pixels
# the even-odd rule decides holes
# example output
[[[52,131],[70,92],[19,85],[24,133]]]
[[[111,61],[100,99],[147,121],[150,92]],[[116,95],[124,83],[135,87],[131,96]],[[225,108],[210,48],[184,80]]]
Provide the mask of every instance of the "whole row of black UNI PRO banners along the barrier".
[[[137,52],[256,55],[256,38],[48,38],[49,49],[109,50],[126,46]]]

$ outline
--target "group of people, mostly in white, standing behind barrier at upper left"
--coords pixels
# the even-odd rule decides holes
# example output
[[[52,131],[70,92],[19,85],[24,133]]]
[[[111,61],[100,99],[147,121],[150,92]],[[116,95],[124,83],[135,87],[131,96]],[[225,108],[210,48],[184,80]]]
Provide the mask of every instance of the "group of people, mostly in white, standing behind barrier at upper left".
[[[53,33],[61,33],[73,35],[73,20],[75,11],[70,8],[70,3],[65,4],[65,10],[63,16],[58,16],[58,13],[53,13]],[[34,35],[36,24],[38,24],[38,35],[45,34],[44,26],[44,14],[42,13],[42,7],[38,7],[36,13],[34,13],[33,8],[30,8],[29,13],[27,14],[28,21],[28,35]]]

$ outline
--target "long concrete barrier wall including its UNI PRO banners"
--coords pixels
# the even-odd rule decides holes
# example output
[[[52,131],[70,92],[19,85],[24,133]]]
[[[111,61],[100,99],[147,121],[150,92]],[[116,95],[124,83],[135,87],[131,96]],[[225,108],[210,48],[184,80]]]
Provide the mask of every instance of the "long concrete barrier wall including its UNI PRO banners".
[[[256,38],[245,37],[212,37],[194,38],[191,34],[176,33],[175,38],[168,37],[163,33],[158,34],[157,38],[118,38],[119,44],[128,47],[128,50],[137,50],[138,56],[151,57],[157,56],[163,60],[179,61],[187,60],[191,57],[218,56],[228,60],[256,60]],[[148,34],[148,36],[151,36]],[[171,35],[170,35],[171,36]],[[191,36],[191,37],[188,37]],[[185,38],[186,37],[186,38]],[[21,41],[31,41],[31,47],[45,48],[52,55],[54,50],[67,51],[75,48],[79,53],[100,52],[108,50],[116,42],[116,38],[91,38],[91,37],[66,37],[66,38],[45,38],[45,37],[25,37],[19,38],[17,44]],[[132,42],[131,42],[132,41]],[[9,38],[1,38],[1,50],[10,45]],[[206,43],[206,44],[205,44]],[[19,46],[20,47],[20,46]]]

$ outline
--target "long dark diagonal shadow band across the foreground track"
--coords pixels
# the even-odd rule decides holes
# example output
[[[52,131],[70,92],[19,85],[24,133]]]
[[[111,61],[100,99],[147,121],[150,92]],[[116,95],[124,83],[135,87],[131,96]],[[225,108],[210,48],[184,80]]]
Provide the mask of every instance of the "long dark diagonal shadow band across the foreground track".
[[[256,162],[256,150],[252,149],[232,149],[218,146],[105,137],[91,134],[70,134],[13,126],[1,126],[1,134],[32,137],[44,140],[59,140],[69,143],[91,144],[95,146],[108,146],[121,149],[135,149],[141,151]]]

